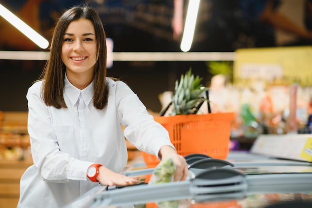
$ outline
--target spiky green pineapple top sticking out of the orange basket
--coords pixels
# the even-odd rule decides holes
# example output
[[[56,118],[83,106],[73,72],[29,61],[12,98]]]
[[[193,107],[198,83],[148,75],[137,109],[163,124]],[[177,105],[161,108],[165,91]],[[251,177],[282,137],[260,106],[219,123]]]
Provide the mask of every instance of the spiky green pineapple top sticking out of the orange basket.
[[[196,114],[201,104],[207,100],[203,93],[208,90],[200,84],[202,78],[194,75],[189,69],[181,75],[180,82],[175,81],[174,93],[172,95],[171,115]]]

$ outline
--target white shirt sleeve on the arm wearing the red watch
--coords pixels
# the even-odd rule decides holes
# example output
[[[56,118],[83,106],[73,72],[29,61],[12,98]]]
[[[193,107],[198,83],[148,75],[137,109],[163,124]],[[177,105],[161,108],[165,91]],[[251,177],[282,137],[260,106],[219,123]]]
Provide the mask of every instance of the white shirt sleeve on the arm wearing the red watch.
[[[40,178],[44,181],[67,183],[69,180],[87,181],[91,162],[80,161],[60,151],[51,125],[49,107],[41,96],[41,82],[28,89],[28,133],[31,154]]]

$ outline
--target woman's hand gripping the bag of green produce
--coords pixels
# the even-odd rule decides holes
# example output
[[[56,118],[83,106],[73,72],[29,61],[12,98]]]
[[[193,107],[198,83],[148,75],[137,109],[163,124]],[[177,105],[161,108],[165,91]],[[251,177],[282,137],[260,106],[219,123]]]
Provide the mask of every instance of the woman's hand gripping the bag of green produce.
[[[171,158],[175,164],[175,174],[173,181],[184,181],[187,178],[188,165],[183,156],[178,155],[176,151],[170,146],[163,146],[159,150],[159,157],[161,160]]]

